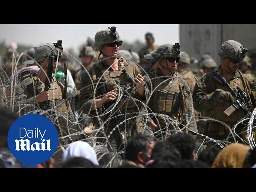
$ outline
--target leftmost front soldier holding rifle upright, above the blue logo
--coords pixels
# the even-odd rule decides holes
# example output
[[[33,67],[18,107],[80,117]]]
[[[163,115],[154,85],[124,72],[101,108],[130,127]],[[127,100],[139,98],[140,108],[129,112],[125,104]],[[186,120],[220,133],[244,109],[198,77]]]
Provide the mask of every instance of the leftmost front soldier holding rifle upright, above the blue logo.
[[[58,53],[58,50],[60,51]],[[59,137],[68,136],[65,139],[59,138],[59,148],[57,148],[55,160],[60,160],[62,152],[60,151],[61,145],[66,145],[72,140],[76,140],[76,136],[70,136],[70,134],[77,132],[75,127],[71,123],[67,122],[75,121],[74,115],[70,108],[68,100],[64,98],[64,85],[52,77],[52,82],[48,91],[44,91],[46,82],[46,72],[50,63],[50,57],[54,56],[53,68],[54,72],[57,68],[57,58],[62,56],[60,46],[56,44],[43,44],[36,49],[35,60],[40,66],[40,70],[37,74],[27,73],[20,78],[20,84],[16,88],[15,109],[20,115],[32,112],[34,110],[40,110],[42,103],[47,103],[49,112],[43,112],[48,117],[58,130]],[[42,90],[42,91],[41,91]],[[41,110],[42,111],[42,110]],[[68,120],[67,120],[68,118]]]

